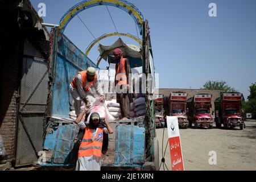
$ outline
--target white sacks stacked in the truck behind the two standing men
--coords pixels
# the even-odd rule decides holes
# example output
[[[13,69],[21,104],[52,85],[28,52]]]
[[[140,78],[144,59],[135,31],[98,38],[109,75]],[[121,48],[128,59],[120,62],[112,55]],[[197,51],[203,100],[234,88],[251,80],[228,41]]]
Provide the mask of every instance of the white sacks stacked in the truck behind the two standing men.
[[[141,91],[141,86],[143,86],[141,82],[142,77],[142,67],[133,68],[131,69],[132,73],[137,73],[139,77],[134,78],[134,84],[138,84],[138,81],[140,82],[139,89],[135,90],[136,92]],[[115,64],[110,64],[110,67],[108,70],[105,69],[97,69],[96,71],[98,80],[101,83],[102,90],[105,93],[104,96],[106,98],[105,105],[108,108],[108,111],[115,119],[119,119],[121,117],[121,109],[120,105],[117,103],[116,100],[116,93],[115,93]],[[92,91],[94,94],[96,94],[95,89],[92,86]],[[97,96],[99,97],[99,96]],[[131,118],[137,118],[145,115],[146,113],[146,101],[144,94],[137,94],[137,98],[133,98],[133,103],[130,105],[130,117]],[[70,113],[69,117],[73,120],[76,119],[76,113],[75,108],[73,107],[73,101],[69,101],[70,103]],[[81,102],[80,110],[84,110],[85,104],[84,102]],[[85,120],[85,117],[82,119],[82,121]]]

